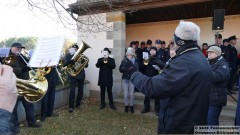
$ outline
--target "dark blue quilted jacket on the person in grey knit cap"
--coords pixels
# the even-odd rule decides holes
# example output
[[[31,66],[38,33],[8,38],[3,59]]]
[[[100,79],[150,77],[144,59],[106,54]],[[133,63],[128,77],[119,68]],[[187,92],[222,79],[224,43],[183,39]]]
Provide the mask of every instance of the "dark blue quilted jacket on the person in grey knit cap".
[[[210,60],[212,68],[212,83],[209,93],[210,106],[225,106],[227,104],[227,82],[230,78],[228,64],[223,57]]]

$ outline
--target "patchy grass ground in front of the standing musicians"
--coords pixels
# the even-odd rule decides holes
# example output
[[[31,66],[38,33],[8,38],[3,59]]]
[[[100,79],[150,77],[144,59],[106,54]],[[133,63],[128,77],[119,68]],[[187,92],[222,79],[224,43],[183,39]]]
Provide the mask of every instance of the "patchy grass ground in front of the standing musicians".
[[[83,104],[59,117],[48,118],[41,128],[21,127],[20,135],[153,135],[157,133],[157,117],[124,113],[123,109],[99,110],[97,103]]]

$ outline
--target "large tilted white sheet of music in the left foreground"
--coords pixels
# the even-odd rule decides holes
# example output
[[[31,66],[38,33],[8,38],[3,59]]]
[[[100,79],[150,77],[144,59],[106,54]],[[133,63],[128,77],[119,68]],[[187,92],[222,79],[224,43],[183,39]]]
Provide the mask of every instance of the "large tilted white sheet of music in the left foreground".
[[[61,56],[65,38],[40,37],[37,42],[29,65],[31,67],[49,67],[57,65]]]

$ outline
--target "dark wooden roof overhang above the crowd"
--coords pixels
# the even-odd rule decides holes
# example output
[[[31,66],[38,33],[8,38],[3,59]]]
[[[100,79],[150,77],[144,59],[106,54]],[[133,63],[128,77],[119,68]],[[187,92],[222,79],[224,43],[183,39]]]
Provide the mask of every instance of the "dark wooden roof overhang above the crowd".
[[[240,0],[78,0],[69,5],[71,12],[82,15],[123,11],[126,23],[146,23],[211,17],[214,9],[225,15],[240,14]]]

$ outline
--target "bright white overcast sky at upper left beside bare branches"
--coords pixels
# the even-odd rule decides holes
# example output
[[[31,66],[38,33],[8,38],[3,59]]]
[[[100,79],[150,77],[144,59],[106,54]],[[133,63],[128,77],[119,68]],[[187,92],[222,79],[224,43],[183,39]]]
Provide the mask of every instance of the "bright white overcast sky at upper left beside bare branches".
[[[64,28],[41,12],[32,12],[20,0],[0,1],[0,40],[9,37],[64,35],[76,40],[76,31]]]

